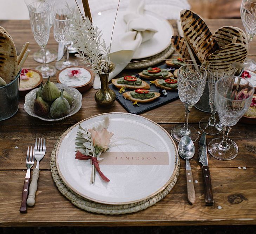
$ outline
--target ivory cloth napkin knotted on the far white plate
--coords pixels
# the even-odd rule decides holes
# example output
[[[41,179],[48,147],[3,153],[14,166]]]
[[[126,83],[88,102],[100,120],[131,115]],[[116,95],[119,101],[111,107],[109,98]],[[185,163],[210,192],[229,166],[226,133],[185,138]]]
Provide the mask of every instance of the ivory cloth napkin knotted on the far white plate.
[[[131,61],[133,54],[141,43],[150,40],[157,32],[156,27],[144,15],[144,0],[130,0],[127,13],[124,15],[126,32],[113,39],[110,60],[116,68],[109,75],[109,81],[119,74]],[[122,64],[120,64],[122,63]],[[99,76],[96,74],[93,88],[100,88]]]

